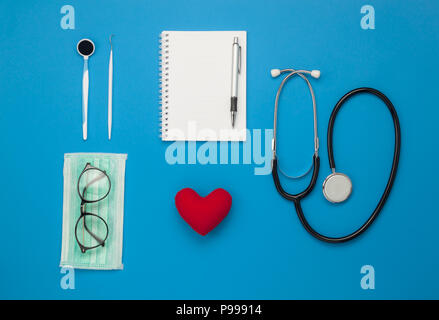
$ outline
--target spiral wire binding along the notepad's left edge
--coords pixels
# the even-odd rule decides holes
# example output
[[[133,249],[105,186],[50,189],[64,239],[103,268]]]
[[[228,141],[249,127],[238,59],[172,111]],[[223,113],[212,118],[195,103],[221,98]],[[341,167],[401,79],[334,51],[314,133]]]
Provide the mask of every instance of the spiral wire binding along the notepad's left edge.
[[[160,137],[168,137],[168,112],[169,112],[169,33],[160,34]]]

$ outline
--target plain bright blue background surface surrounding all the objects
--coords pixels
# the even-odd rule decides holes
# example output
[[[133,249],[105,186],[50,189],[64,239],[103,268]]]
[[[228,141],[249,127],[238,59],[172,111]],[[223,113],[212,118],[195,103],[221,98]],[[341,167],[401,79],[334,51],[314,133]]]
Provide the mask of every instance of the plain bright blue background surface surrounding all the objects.
[[[60,27],[65,4],[75,30]],[[360,8],[375,8],[363,30]],[[436,1],[1,1],[0,298],[296,299],[439,298],[437,119],[439,4]],[[158,35],[162,30],[247,30],[247,125],[272,128],[280,79],[273,67],[318,68],[321,172],[303,201],[319,231],[341,235],[362,224],[385,186],[393,127],[384,105],[356,97],[334,132],[339,171],[354,183],[333,206],[320,188],[329,173],[326,128],[348,90],[371,86],[394,103],[402,128],[398,176],[379,218],[361,238],[329,245],[311,238],[293,206],[255,165],[174,165],[158,138]],[[113,139],[107,140],[108,37],[114,37]],[[82,141],[82,59],[93,39],[89,140]],[[208,81],[208,70],[206,79]],[[311,160],[306,86],[287,85],[279,115],[279,155],[291,173]],[[76,271],[63,290],[59,261],[62,167],[66,152],[128,153],[123,271]],[[291,184],[300,191],[306,179]],[[229,216],[208,236],[179,217],[183,187],[233,196]],[[362,290],[360,268],[375,268]]]

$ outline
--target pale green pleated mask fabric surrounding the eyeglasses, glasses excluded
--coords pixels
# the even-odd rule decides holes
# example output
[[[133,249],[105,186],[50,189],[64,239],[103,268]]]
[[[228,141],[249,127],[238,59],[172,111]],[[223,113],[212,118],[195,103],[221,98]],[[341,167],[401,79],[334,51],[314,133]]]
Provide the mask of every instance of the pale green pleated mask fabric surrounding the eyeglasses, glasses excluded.
[[[123,269],[122,244],[126,159],[126,154],[114,153],[67,153],[64,155],[61,267],[96,270]],[[80,239],[85,238],[87,232],[82,231],[79,234],[78,230],[75,231],[75,226],[81,217],[78,178],[87,164],[104,171],[109,177],[111,188],[104,199],[86,205],[87,212],[98,215],[107,223],[108,236],[105,244],[83,253],[76,239],[77,237]],[[96,220],[101,221],[101,219]],[[102,233],[103,226],[91,220],[88,222],[89,229],[95,234]],[[90,235],[88,235],[88,238],[90,238]]]

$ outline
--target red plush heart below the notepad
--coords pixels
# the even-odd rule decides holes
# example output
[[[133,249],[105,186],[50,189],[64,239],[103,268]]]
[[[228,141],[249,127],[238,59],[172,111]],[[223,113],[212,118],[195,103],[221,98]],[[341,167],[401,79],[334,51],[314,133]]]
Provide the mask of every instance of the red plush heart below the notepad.
[[[184,221],[205,236],[227,216],[232,196],[224,189],[216,189],[203,198],[191,188],[184,188],[175,196],[175,205]]]

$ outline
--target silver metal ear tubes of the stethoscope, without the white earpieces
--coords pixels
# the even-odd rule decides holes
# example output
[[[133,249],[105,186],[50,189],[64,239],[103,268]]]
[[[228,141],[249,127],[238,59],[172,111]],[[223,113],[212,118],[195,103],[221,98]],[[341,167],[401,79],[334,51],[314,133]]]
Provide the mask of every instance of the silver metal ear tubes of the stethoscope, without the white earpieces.
[[[304,75],[304,73],[311,74],[311,71],[307,71],[307,70],[294,70],[294,69],[283,69],[283,70],[280,70],[280,73],[283,73],[283,72],[289,72],[289,74],[282,80],[282,82],[281,82],[281,84],[279,86],[279,89],[277,90],[276,99],[275,99],[275,102],[274,102],[274,125],[273,125],[274,136],[273,136],[273,141],[272,141],[273,159],[276,158],[277,109],[278,109],[278,106],[279,106],[279,97],[280,97],[280,94],[282,92],[282,89],[283,89],[285,83],[288,81],[288,79],[290,79],[294,75],[298,75],[303,80],[305,80],[306,84],[308,85],[309,92],[311,94],[312,107],[313,107],[313,118],[314,118],[314,155],[313,155],[313,158],[314,158],[314,156],[317,157],[318,153],[319,153],[319,137],[318,137],[318,134],[317,134],[317,107],[316,107],[316,99],[315,99],[315,95],[314,95],[314,90],[312,89],[312,85],[309,82],[308,78]],[[314,161],[313,161],[311,163],[311,166],[309,167],[309,169],[305,173],[303,173],[303,174],[301,174],[299,176],[290,176],[290,175],[286,174],[285,171],[283,171],[281,169],[281,167],[279,165],[279,160],[277,160],[277,162],[278,162],[278,169],[279,169],[279,171],[285,177],[287,177],[289,179],[300,179],[300,178],[306,176],[309,172],[311,172],[311,169],[314,166]]]

